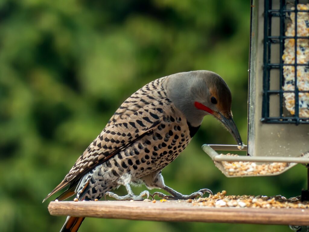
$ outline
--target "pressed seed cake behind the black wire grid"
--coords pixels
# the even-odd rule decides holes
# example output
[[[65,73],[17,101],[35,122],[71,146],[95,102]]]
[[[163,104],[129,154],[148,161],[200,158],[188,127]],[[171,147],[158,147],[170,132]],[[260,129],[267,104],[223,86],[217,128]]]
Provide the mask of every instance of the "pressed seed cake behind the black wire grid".
[[[295,8],[292,7],[292,10]],[[298,10],[309,10],[309,4],[298,4]],[[286,36],[295,36],[295,13],[290,13],[292,23],[287,25]],[[297,13],[297,36],[309,37],[309,13]],[[297,39],[297,63],[306,64],[309,62],[309,39]],[[295,40],[286,39],[284,42],[284,52],[282,55],[285,64],[295,63]],[[299,90],[309,90],[309,68],[308,66],[297,66],[297,87]],[[295,87],[295,67],[283,66],[284,85],[283,90],[293,90]],[[286,109],[291,114],[295,114],[295,94],[292,92],[283,93]],[[309,117],[309,92],[302,92],[298,95],[299,117]]]

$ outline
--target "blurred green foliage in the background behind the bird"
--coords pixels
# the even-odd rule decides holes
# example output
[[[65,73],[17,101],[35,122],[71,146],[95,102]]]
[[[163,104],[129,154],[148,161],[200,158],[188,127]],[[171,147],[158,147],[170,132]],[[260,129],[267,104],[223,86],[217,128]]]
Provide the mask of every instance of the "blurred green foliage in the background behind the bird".
[[[42,199],[118,106],[153,79],[191,70],[221,75],[244,141],[250,1],[2,0],[0,2],[0,231],[58,231]],[[168,186],[228,194],[299,195],[306,172],[226,178],[203,143],[235,143],[206,117],[163,170]],[[145,187],[136,187],[136,193]],[[124,194],[125,190],[117,191]],[[87,218],[80,231],[290,231],[287,226]]]

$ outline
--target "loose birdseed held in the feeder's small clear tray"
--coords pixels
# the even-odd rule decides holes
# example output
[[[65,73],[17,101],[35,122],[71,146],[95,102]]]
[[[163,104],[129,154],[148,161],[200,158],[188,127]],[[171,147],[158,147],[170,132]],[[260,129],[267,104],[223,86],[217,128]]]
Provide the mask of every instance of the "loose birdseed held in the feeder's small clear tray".
[[[227,153],[226,156],[238,155]],[[287,163],[282,162],[256,164],[256,162],[249,161],[222,161],[222,165],[226,172],[231,176],[274,174],[283,171],[288,166]]]

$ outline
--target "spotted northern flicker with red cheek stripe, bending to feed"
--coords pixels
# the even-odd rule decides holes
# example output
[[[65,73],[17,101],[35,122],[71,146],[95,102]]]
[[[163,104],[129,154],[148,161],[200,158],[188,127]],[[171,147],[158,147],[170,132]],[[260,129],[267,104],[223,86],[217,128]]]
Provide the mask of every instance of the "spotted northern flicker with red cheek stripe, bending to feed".
[[[95,200],[109,195],[117,200],[143,200],[130,184],[145,184],[171,199],[203,196],[208,189],[182,195],[167,187],[161,170],[186,148],[205,115],[217,118],[243,145],[232,119],[231,91],[211,71],[182,72],[156,79],[133,93],[116,110],[103,131],[75,162],[64,180],[44,199],[68,187],[57,199],[77,195]],[[128,194],[111,192],[125,186]],[[77,231],[84,218],[68,217],[61,231]]]

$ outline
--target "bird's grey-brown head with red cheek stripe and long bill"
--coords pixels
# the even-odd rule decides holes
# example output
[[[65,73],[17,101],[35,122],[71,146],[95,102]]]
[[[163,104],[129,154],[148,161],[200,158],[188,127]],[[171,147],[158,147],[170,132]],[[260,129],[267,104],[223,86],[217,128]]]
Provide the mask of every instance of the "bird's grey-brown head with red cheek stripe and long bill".
[[[201,70],[170,75],[167,89],[168,97],[193,127],[201,125],[204,116],[212,115],[243,146],[231,111],[231,91],[218,74]]]

